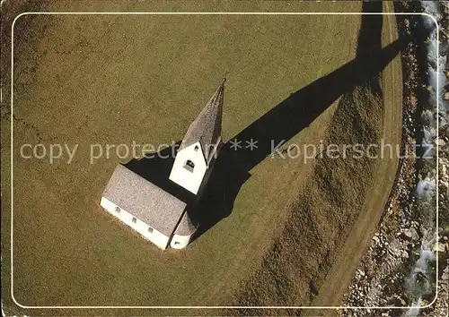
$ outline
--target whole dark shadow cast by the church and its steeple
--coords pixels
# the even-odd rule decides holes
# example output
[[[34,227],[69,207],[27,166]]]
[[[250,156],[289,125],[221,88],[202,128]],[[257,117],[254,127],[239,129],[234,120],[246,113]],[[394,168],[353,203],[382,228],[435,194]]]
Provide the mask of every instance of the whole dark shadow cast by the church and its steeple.
[[[382,2],[364,2],[364,13],[381,13]],[[357,43],[357,56],[337,70],[292,93],[266,114],[247,126],[231,140],[257,141],[257,149],[234,150],[227,142],[220,151],[216,165],[200,200],[188,210],[198,222],[195,240],[218,221],[228,217],[242,185],[251,177],[250,171],[273,152],[277,145],[293,138],[330,107],[340,96],[357,86],[368,85],[374,93],[382,94],[379,75],[401,51],[405,41],[396,40],[382,47],[383,15],[363,15]],[[176,190],[168,179],[174,157],[172,148],[153,159],[133,159],[126,167],[169,193]]]

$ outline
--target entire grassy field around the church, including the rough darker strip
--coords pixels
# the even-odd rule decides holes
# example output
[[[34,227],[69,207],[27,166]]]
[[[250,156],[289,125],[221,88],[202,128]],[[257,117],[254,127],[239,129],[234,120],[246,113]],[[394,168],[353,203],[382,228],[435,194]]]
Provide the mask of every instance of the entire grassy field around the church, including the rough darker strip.
[[[60,9],[53,5],[53,11]],[[222,5],[224,11],[361,11],[356,2],[281,9],[269,3]],[[207,4],[165,3],[151,10],[163,9],[212,10]],[[130,8],[92,2],[75,10]],[[149,9],[136,4],[133,10]],[[226,72],[223,137],[228,140],[290,94],[353,60],[360,21],[357,15],[20,18],[13,78],[15,299],[24,305],[74,306],[311,304],[316,295],[311,279],[321,289],[332,283],[326,279],[329,270],[345,267],[346,251],[339,255],[340,248],[357,245],[363,252],[357,235],[350,239],[351,226],[359,214],[380,215],[396,163],[265,159],[251,170],[229,217],[185,251],[161,252],[99,204],[115,165],[131,157],[111,155],[90,164],[90,144],[179,141]],[[384,19],[383,46],[395,38],[394,19]],[[382,96],[355,88],[290,141],[385,137],[398,142],[398,58],[381,82]],[[9,252],[8,107],[2,106],[2,246]],[[65,156],[50,165],[22,159],[24,143],[79,148],[71,164]],[[384,178],[376,176],[379,169]],[[377,198],[370,201],[373,191]],[[9,254],[2,256],[10,260]],[[339,268],[331,268],[334,261]]]

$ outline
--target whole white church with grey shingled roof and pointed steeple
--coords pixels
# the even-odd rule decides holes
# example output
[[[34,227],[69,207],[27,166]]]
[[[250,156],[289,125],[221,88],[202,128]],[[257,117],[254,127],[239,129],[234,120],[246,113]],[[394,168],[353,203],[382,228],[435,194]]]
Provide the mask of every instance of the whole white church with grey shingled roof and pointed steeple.
[[[225,80],[190,124],[174,159],[169,179],[193,199],[168,193],[121,164],[101,195],[102,208],[163,250],[185,248],[198,228],[187,211],[203,192],[223,144],[224,92]]]

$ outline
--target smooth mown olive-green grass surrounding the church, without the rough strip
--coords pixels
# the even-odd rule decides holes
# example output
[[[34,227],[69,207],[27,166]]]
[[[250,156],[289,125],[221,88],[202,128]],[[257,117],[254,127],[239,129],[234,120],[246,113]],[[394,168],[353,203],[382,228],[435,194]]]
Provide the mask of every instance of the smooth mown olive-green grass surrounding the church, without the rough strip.
[[[89,146],[180,140],[226,70],[232,74],[223,127],[229,138],[291,92],[351,60],[358,18],[47,19],[53,17],[34,18],[51,27],[43,28],[37,43],[17,47],[15,56],[15,298],[30,305],[229,304],[238,281],[282,227],[303,183],[297,177],[305,180],[312,165],[262,162],[228,218],[187,250],[162,253],[99,205],[115,165],[131,158],[112,154],[89,164]],[[338,55],[329,49],[337,41],[347,47]],[[29,67],[35,67],[31,77]],[[331,116],[322,114],[293,141],[320,141]],[[4,130],[8,119],[6,113]],[[9,133],[3,137],[8,176]],[[20,158],[21,144],[39,142],[80,145],[71,164],[66,156],[52,165]],[[9,178],[3,182],[9,188]],[[11,201],[2,203],[10,209]],[[3,217],[9,223],[8,214]]]

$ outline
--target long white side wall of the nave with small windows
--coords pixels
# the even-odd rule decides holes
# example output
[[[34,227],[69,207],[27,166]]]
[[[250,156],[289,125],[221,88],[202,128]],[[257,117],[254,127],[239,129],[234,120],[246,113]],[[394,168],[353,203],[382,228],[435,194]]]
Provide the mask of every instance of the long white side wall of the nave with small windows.
[[[134,217],[127,210],[121,209],[112,201],[107,198],[101,197],[100,205],[102,208],[107,210],[111,215],[116,218],[119,218],[123,223],[125,223],[128,227],[132,227],[137,233],[144,236],[147,240],[150,240],[152,243],[156,244],[159,248],[165,250],[169,244],[169,237],[163,235],[162,232],[157,231],[152,227],[152,230],[149,230],[150,225],[146,224],[145,221],[142,221],[139,218]],[[119,209],[118,209],[119,208]],[[136,218],[136,222],[133,222],[133,218]]]

